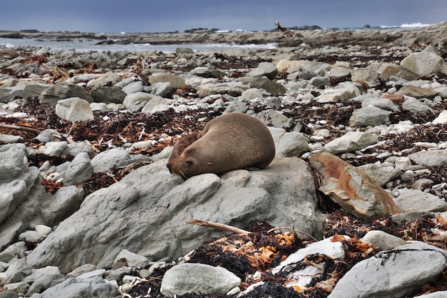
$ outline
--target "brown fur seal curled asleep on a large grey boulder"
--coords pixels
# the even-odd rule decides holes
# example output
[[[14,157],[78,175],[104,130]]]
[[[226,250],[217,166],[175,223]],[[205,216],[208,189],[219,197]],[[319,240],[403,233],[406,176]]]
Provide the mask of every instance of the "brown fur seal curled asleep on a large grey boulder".
[[[167,164],[169,172],[189,178],[252,166],[263,169],[275,157],[275,144],[268,127],[253,116],[224,114],[209,121],[204,130],[196,134],[185,139],[183,144],[174,145],[174,156],[171,155]],[[196,137],[198,139],[194,140]]]

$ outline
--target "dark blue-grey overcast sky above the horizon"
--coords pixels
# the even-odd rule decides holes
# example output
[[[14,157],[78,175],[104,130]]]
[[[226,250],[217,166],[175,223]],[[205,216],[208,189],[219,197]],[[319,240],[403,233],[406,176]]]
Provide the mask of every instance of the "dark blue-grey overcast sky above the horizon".
[[[262,31],[447,21],[447,0],[12,0],[0,30],[94,33],[168,32],[193,28]]]

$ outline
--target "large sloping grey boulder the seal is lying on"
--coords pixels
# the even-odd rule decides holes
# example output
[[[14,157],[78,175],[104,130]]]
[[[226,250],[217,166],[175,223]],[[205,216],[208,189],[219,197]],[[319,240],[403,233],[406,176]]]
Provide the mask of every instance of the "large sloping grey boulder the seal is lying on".
[[[274,159],[267,169],[202,174],[184,181],[166,159],[136,169],[84,199],[27,257],[29,264],[111,267],[123,249],[156,261],[179,257],[220,231],[186,222],[201,219],[244,227],[261,219],[275,227],[316,229],[317,198],[308,164]]]

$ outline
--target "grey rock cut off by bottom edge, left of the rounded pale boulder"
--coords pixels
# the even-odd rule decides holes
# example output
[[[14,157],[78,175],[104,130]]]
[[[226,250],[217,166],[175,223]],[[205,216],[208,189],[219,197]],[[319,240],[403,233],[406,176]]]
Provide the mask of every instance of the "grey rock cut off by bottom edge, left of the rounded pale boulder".
[[[64,293],[64,298],[96,297],[110,298],[119,296],[118,289],[101,277],[88,279],[70,278],[46,289],[41,294],[34,294],[33,298],[59,298]]]

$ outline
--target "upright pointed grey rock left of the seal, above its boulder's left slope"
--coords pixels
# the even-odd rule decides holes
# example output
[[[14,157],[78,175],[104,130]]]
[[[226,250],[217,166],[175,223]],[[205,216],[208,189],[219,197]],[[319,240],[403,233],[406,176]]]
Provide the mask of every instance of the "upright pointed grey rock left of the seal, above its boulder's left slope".
[[[93,174],[93,166],[89,154],[81,152],[70,162],[65,173],[64,185],[75,185],[86,182]]]

